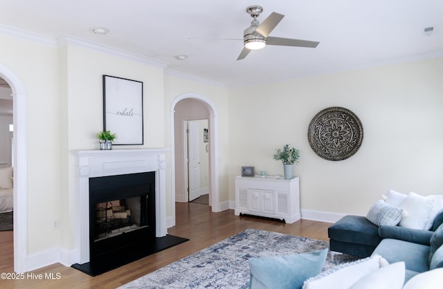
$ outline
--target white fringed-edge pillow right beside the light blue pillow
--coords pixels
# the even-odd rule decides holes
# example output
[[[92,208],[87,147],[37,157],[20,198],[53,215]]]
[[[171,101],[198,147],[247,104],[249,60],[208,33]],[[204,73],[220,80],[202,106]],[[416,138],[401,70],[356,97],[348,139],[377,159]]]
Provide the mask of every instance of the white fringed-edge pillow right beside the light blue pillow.
[[[381,261],[383,260],[383,261]],[[305,281],[302,289],[347,289],[361,277],[374,272],[385,262],[379,255],[338,265]]]

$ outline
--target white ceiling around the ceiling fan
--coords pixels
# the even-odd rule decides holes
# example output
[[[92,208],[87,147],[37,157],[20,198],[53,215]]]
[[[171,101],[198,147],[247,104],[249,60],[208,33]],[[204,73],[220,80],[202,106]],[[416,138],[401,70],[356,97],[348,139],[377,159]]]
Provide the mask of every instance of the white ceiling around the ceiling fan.
[[[285,15],[270,36],[320,44],[266,46],[237,61],[242,41],[220,38],[243,37],[251,5],[263,6],[259,21]],[[0,0],[0,25],[93,41],[228,86],[443,56],[442,0]],[[100,26],[110,32],[91,32]]]

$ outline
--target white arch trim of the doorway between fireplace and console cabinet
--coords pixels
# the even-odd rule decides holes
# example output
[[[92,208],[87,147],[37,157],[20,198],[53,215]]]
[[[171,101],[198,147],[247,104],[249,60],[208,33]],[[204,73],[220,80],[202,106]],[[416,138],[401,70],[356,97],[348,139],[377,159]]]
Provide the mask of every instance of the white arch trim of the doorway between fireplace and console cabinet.
[[[184,93],[177,96],[171,104],[170,116],[171,116],[171,178],[172,178],[172,220],[175,223],[175,191],[176,191],[176,161],[175,155],[176,142],[181,142],[175,136],[177,130],[182,130],[183,126],[176,127],[174,122],[174,111],[177,103],[181,100],[192,99],[196,100],[200,104],[203,104],[208,109],[208,130],[209,130],[209,189],[210,189],[210,206],[213,212],[219,212],[219,171],[218,171],[218,125],[217,125],[217,111],[215,105],[203,95],[197,95],[194,93]],[[179,165],[179,164],[177,164]]]

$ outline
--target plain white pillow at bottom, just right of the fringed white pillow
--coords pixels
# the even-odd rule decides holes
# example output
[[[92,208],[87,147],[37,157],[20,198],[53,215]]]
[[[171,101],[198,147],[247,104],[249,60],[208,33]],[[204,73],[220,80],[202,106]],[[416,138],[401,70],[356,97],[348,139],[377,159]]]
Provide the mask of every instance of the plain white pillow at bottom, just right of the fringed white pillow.
[[[405,274],[404,262],[392,263],[361,277],[350,289],[401,289]]]

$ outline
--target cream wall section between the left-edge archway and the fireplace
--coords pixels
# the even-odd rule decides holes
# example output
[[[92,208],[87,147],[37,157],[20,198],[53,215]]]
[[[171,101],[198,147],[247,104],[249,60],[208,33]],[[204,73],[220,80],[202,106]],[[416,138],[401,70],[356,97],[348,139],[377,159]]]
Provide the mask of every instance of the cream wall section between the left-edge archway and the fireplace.
[[[57,47],[0,35],[0,63],[26,86],[28,253],[60,245]]]

